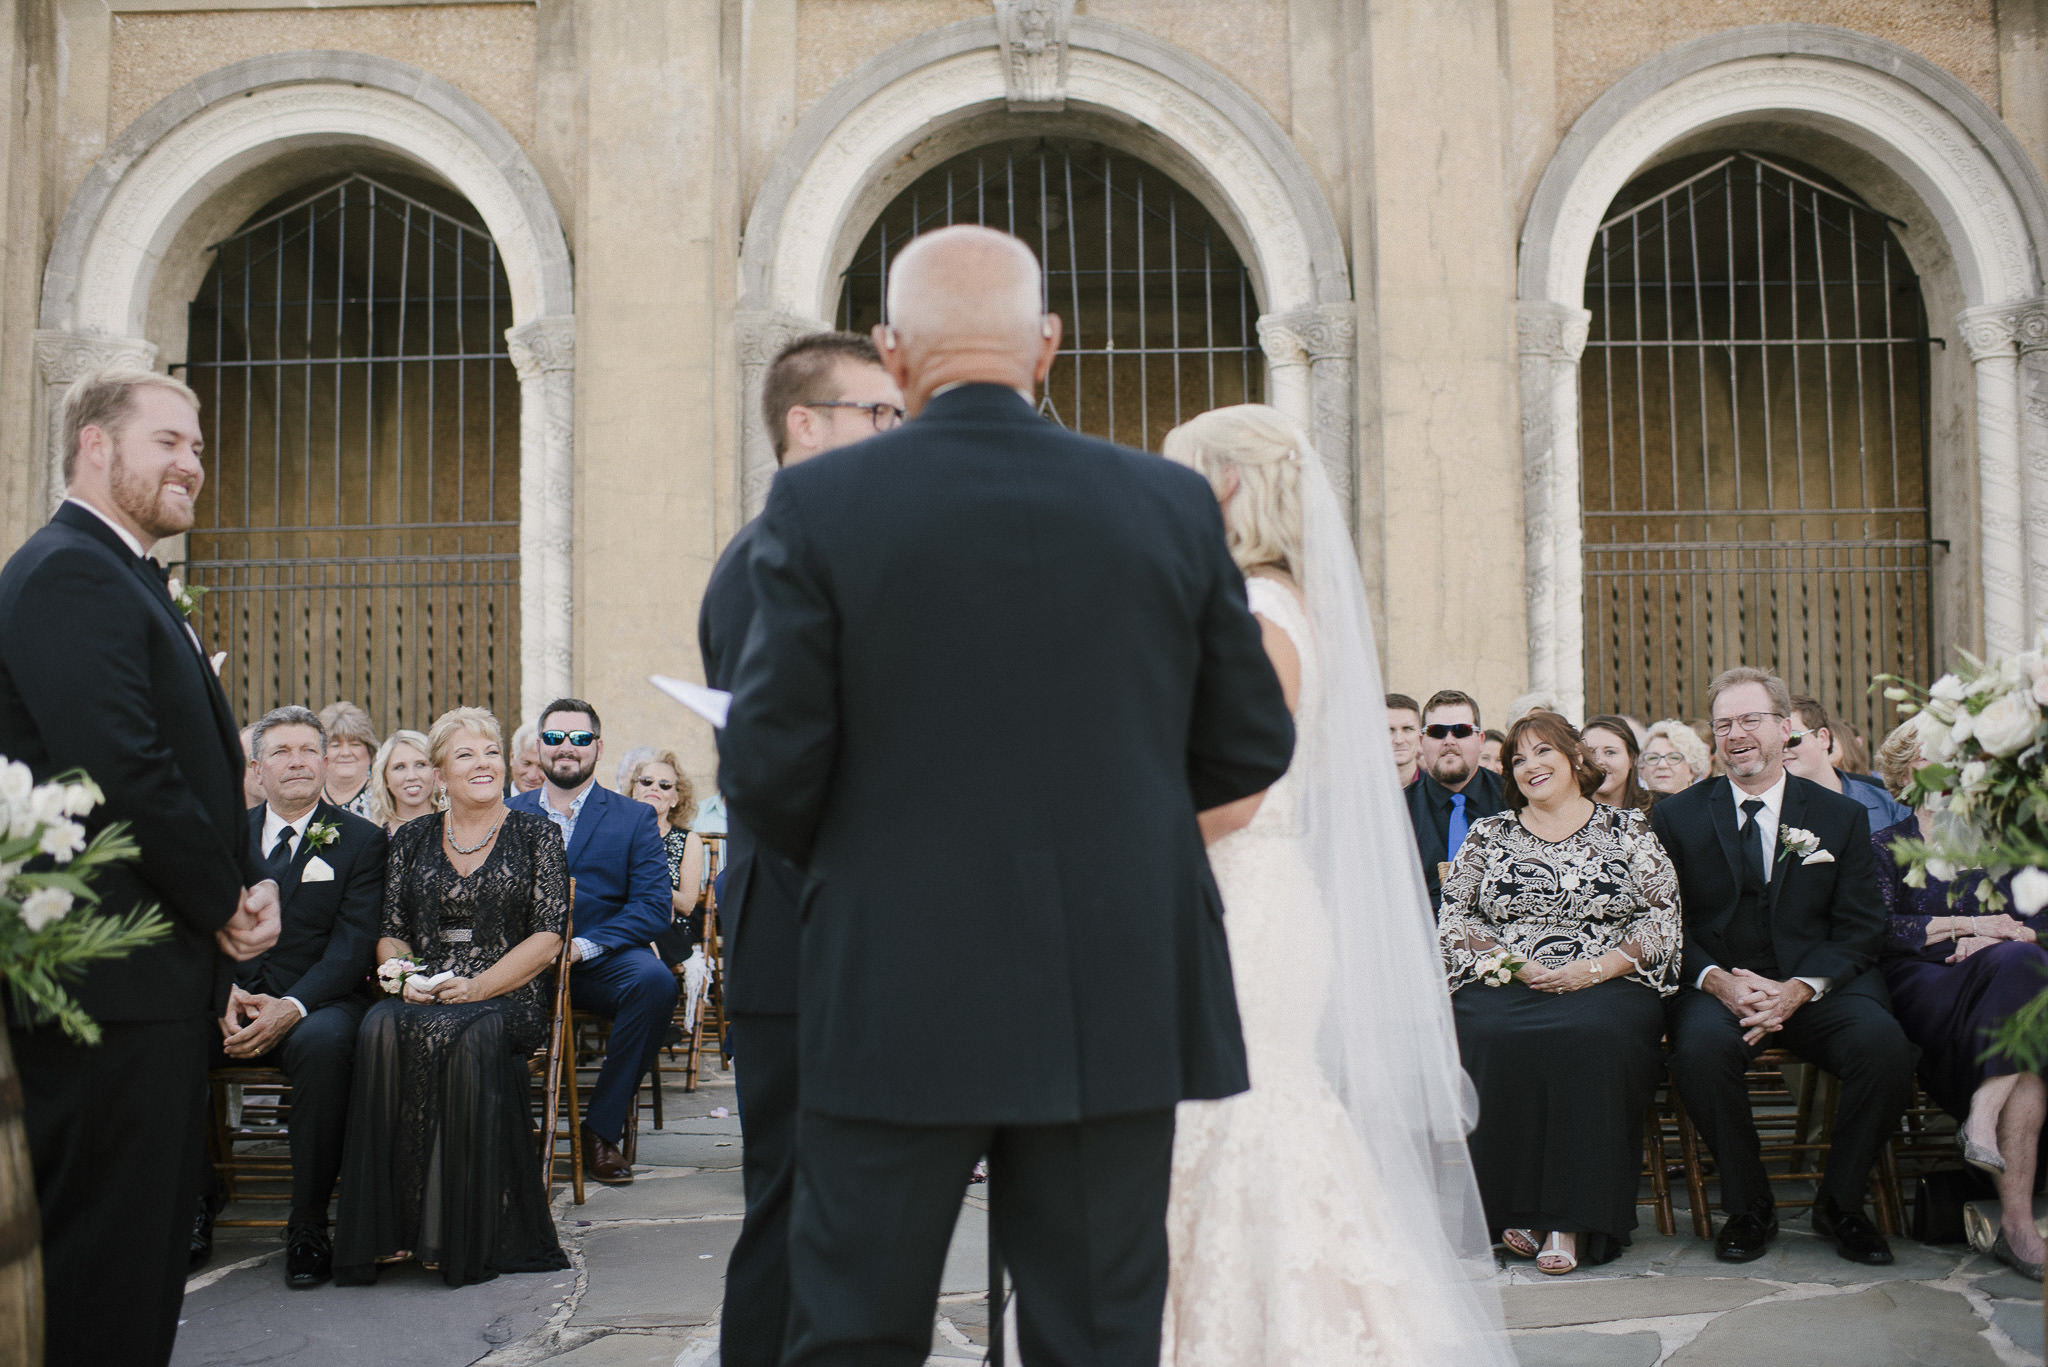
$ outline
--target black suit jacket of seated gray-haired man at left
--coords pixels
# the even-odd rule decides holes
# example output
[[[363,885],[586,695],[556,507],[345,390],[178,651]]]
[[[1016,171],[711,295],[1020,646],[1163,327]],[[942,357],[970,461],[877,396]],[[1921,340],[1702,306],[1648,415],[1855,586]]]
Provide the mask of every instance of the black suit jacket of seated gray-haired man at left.
[[[268,807],[250,807],[250,855],[262,859],[262,826]],[[344,812],[322,799],[313,822],[332,822],[340,834],[322,848],[299,838],[291,867],[276,887],[285,904],[276,945],[248,963],[236,963],[231,978],[244,992],[295,996],[307,1012],[362,990],[377,967],[377,924],[383,918],[383,871],[389,840],[377,822]],[[305,869],[319,859],[332,879],[307,881]]]

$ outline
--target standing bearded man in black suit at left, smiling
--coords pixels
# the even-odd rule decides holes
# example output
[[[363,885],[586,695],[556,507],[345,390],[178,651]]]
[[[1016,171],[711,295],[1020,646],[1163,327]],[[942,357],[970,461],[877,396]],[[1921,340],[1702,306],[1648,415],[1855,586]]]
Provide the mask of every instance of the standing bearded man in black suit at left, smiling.
[[[145,551],[188,531],[199,400],[102,371],[63,402],[68,498],[0,570],[0,754],[37,781],[84,769],[92,824],[141,846],[100,908],[170,933],[72,986],[98,1045],[10,1014],[43,1219],[45,1361],[164,1363],[199,1201],[215,963],[276,941],[276,883],[248,851],[242,744],[207,654]]]

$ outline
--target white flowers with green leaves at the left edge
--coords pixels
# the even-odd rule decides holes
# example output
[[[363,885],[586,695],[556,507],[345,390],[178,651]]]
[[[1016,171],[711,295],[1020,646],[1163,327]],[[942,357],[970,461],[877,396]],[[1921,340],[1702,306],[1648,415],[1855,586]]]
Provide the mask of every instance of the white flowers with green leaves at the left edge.
[[[92,912],[92,875],[139,853],[121,824],[90,840],[80,818],[106,797],[82,773],[37,783],[0,756],[0,980],[18,1021],[55,1021],[80,1043],[100,1027],[63,988],[94,959],[119,959],[170,933],[156,908]]]

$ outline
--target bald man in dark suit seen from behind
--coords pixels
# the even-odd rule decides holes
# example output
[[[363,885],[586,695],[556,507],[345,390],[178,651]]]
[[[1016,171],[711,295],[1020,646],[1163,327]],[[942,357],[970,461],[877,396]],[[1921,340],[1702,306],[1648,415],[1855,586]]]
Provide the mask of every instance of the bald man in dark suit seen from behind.
[[[805,869],[784,1363],[922,1363],[975,1160],[1026,1361],[1157,1367],[1174,1105],[1245,1088],[1196,814],[1292,752],[1208,484],[1032,410],[1038,262],[897,258],[915,416],[776,475],[721,781]]]

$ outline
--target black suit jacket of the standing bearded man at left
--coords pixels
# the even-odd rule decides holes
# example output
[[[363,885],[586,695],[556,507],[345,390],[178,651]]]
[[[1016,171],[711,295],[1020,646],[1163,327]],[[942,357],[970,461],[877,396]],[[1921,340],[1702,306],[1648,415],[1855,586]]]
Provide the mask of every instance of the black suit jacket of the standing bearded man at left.
[[[213,933],[258,875],[227,697],[158,572],[63,504],[0,570],[0,754],[37,781],[84,769],[106,793],[88,830],[141,846],[98,875],[100,908],[158,906],[172,930],[72,984],[96,1021],[213,1014]]]

